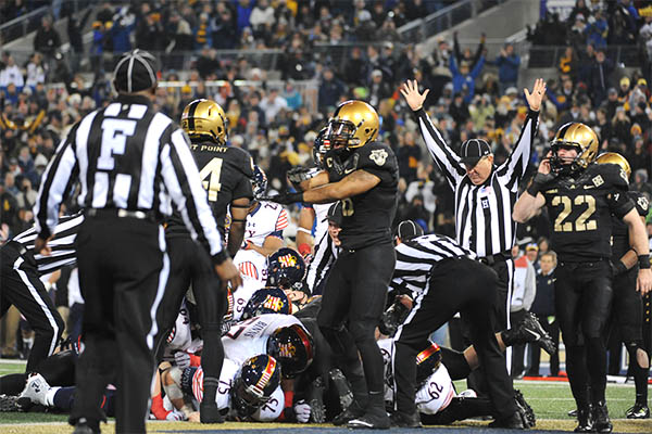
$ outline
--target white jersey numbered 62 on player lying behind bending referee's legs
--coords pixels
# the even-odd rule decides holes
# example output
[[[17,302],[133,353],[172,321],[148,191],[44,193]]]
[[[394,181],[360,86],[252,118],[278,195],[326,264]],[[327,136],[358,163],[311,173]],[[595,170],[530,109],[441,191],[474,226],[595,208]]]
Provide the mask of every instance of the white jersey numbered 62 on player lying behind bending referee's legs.
[[[383,363],[385,365],[385,401],[393,404],[394,401],[394,379],[393,379],[393,357],[394,357],[394,340],[385,339],[378,341],[378,347],[383,355]],[[416,363],[416,360],[414,360]],[[425,384],[416,392],[416,407],[418,411],[426,414],[435,414],[443,410],[451,404],[451,399],[455,396],[455,388],[451,376],[443,366],[428,376]]]

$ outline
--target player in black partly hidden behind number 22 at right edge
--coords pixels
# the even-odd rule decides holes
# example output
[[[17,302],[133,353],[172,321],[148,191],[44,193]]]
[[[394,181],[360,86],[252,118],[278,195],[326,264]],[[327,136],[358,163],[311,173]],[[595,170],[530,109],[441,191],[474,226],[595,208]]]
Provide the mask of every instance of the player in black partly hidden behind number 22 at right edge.
[[[598,164],[617,164],[627,178],[631,168],[625,157],[615,152],[602,154],[595,161]],[[627,195],[636,206],[643,222],[650,203],[648,197],[638,191],[628,191]],[[636,291],[638,273],[637,253],[629,247],[629,231],[627,225],[615,216],[612,218],[612,261],[614,264],[614,299],[612,304],[612,321],[618,324],[620,340],[629,354],[629,365],[634,371],[636,385],[636,403],[626,412],[627,419],[648,419],[648,374],[650,357],[648,345],[643,341],[643,303],[641,294]]]

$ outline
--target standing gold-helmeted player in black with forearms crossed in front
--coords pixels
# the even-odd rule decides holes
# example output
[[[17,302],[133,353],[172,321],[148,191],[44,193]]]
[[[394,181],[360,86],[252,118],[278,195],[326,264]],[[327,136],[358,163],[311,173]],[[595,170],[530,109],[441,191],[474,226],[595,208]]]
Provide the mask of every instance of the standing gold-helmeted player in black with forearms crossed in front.
[[[342,251],[326,282],[317,321],[355,395],[334,421],[349,427],[390,425],[374,333],[396,264],[390,226],[399,173],[392,150],[376,141],[378,129],[378,114],[369,104],[341,103],[328,122],[326,169],[302,181],[303,191],[268,199],[280,204],[341,202]]]

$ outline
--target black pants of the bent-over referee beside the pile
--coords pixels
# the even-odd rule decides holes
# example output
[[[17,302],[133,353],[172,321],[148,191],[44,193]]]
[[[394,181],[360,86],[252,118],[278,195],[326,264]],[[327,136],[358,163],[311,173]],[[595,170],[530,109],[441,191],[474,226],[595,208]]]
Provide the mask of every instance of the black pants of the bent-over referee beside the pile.
[[[494,318],[488,308],[496,298],[496,272],[468,258],[446,259],[432,268],[428,285],[416,297],[410,316],[394,337],[393,372],[400,412],[416,412],[416,355],[428,344],[430,333],[457,311],[469,324],[469,337],[480,360],[478,371],[486,379],[496,418],[507,418],[516,411],[512,381],[493,333]]]

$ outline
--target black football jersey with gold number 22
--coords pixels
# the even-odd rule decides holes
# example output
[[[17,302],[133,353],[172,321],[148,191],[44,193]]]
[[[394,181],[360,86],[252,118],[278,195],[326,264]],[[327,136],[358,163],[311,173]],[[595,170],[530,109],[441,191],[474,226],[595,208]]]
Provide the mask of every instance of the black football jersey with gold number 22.
[[[556,178],[544,186],[551,244],[560,261],[612,256],[612,214],[623,218],[634,207],[627,188],[627,176],[613,164],[592,164],[577,178]]]

